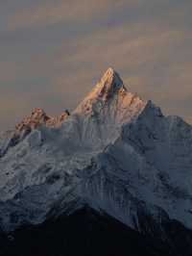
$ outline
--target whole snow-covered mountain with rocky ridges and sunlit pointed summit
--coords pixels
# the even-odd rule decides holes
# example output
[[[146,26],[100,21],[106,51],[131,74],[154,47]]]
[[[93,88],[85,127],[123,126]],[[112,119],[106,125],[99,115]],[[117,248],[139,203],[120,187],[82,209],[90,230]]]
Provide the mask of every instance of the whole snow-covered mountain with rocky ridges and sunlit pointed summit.
[[[0,140],[3,230],[87,204],[140,232],[144,217],[192,228],[192,128],[180,117],[129,92],[112,68],[60,125],[40,113],[12,132],[22,140]]]

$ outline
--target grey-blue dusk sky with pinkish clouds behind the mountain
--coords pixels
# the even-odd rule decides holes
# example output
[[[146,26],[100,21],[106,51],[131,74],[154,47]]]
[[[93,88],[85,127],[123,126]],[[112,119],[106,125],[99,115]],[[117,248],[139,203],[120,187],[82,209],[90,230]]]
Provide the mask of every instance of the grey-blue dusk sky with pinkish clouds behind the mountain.
[[[191,0],[1,0],[0,131],[72,111],[109,66],[192,122]]]

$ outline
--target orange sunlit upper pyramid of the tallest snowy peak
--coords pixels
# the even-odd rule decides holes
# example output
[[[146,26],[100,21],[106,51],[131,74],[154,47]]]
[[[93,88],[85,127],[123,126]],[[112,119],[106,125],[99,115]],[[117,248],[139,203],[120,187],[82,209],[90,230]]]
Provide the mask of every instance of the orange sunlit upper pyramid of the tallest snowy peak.
[[[115,115],[115,118],[124,118],[125,112],[137,115],[147,102],[143,101],[136,94],[129,92],[125,87],[119,74],[111,67],[105,72],[100,81],[91,90],[75,110],[75,114],[98,115],[105,112],[105,115]],[[106,116],[107,117],[107,116]]]

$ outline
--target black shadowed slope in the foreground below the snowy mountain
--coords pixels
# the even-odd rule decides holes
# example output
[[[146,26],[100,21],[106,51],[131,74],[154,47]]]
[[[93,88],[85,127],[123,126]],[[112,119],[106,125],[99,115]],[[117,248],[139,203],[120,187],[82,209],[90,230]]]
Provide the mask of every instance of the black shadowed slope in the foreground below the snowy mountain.
[[[142,235],[118,220],[88,208],[70,217],[20,228],[9,238],[2,235],[2,256],[189,256],[192,232],[180,223],[167,223],[162,241]]]

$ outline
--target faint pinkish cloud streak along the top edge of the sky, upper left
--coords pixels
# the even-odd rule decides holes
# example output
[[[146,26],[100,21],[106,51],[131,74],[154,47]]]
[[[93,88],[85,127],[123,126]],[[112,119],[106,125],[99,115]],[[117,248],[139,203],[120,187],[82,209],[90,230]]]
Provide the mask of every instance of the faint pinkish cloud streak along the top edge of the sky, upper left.
[[[138,4],[139,0],[73,0],[73,1],[47,1],[39,2],[30,9],[25,8],[15,13],[8,20],[8,28],[13,30],[25,27],[39,27],[52,25],[58,22],[87,22],[88,19],[100,18],[116,9],[132,7]]]

